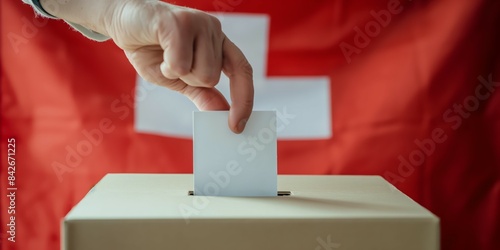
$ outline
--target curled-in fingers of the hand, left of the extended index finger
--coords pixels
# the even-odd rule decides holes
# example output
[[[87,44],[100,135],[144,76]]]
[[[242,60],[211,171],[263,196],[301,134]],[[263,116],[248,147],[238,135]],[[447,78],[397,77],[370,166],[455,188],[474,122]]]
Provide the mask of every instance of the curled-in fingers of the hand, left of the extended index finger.
[[[163,75],[169,79],[180,78],[190,86],[214,87],[222,68],[223,33],[219,20],[189,11],[177,12],[173,20],[178,27],[162,39]]]

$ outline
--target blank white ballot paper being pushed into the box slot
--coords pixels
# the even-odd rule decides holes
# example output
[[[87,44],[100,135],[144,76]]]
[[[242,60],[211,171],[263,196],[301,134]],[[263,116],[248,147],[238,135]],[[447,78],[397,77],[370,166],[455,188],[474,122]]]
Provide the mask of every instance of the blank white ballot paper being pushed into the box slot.
[[[194,195],[276,196],[276,112],[253,111],[241,134],[228,115],[193,112]]]

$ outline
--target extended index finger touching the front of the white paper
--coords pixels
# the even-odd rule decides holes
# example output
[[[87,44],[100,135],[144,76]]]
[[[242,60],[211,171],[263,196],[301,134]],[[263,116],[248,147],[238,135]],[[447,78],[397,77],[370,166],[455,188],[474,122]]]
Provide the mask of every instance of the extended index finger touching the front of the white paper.
[[[229,128],[241,133],[252,114],[253,70],[241,50],[227,37],[222,42],[222,55],[222,70],[229,78],[231,93]]]

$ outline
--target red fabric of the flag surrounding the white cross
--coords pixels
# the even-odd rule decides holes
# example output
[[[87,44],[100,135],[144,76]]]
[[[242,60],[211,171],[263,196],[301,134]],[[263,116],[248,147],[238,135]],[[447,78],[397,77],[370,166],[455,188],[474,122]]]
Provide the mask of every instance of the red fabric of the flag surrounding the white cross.
[[[279,173],[384,176],[440,217],[442,249],[500,249],[499,1],[175,3],[267,14],[267,75],[330,77],[333,136],[280,141]],[[21,1],[1,2],[1,36],[2,249],[58,249],[62,217],[106,173],[192,172],[190,140],[136,132],[133,98],[110,108],[136,84],[112,41]]]

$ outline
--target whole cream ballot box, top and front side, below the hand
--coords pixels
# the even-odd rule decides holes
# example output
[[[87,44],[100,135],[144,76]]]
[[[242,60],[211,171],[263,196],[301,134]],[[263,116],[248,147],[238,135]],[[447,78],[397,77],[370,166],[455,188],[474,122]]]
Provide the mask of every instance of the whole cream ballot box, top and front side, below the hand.
[[[379,176],[281,175],[278,189],[194,196],[189,174],[108,174],[62,221],[62,249],[439,249],[439,219]]]

